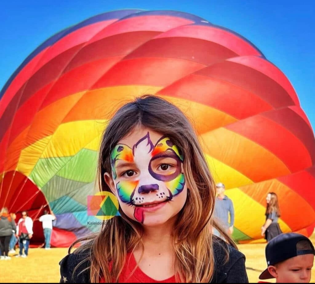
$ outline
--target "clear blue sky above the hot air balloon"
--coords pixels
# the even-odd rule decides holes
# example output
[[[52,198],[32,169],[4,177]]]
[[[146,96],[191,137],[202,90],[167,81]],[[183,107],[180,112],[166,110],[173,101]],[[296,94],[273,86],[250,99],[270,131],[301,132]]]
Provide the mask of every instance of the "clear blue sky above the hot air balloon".
[[[196,14],[249,39],[289,78],[315,129],[315,5],[311,1],[2,2],[0,89],[22,61],[56,32],[93,15],[126,8]]]

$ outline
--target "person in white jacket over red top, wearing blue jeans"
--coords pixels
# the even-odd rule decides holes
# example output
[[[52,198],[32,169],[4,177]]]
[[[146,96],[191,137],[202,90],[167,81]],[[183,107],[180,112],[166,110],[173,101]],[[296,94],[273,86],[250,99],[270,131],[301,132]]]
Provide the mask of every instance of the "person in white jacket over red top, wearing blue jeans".
[[[19,237],[20,254],[16,257],[26,258],[28,256],[28,247],[30,240],[33,236],[33,220],[28,217],[26,211],[22,212],[22,218],[20,218],[17,224],[16,236]],[[24,248],[24,253],[23,253]]]

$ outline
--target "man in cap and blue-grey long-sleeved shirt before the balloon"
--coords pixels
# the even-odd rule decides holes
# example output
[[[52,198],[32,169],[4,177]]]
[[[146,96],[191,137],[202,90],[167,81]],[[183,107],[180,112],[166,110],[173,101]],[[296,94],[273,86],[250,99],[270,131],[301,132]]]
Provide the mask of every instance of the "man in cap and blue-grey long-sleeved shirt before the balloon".
[[[234,226],[234,207],[233,202],[225,194],[225,185],[223,183],[217,183],[216,185],[217,197],[215,198],[215,220],[228,232],[229,235],[233,234]],[[230,223],[229,223],[230,214]],[[214,229],[213,233],[219,237],[221,235]]]

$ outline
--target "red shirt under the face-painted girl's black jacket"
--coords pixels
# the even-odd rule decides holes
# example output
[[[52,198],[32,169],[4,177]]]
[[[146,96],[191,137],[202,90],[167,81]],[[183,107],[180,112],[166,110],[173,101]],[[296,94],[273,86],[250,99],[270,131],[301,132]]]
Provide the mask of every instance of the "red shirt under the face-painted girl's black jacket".
[[[175,275],[162,280],[157,281],[146,275],[139,266],[136,268],[135,272],[130,275],[137,265],[133,253],[127,253],[126,263],[123,267],[123,271],[119,276],[119,283],[175,283]],[[104,279],[100,279],[100,283],[104,283]]]

